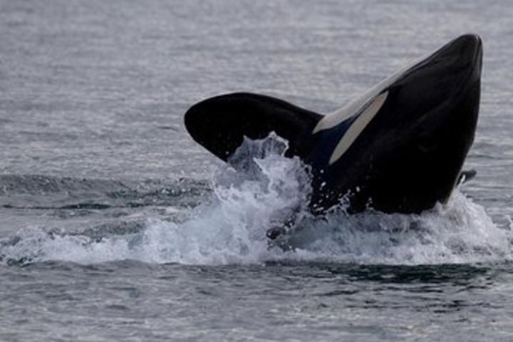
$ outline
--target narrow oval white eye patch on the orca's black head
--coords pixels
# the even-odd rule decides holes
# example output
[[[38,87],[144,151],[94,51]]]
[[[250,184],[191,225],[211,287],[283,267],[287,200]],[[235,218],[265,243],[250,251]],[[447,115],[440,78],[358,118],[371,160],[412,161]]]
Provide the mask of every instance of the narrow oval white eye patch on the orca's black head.
[[[333,150],[333,153],[331,154],[329,160],[330,165],[333,164],[333,162],[336,162],[348,150],[348,148],[351,147],[354,140],[358,138],[358,135],[360,135],[363,132],[363,129],[366,128],[368,123],[371,122],[374,116],[381,109],[383,103],[385,103],[387,96],[388,91],[386,91],[385,93],[380,93],[378,96],[374,98],[372,103],[368,105],[367,108],[363,110],[363,112],[360,115],[358,115],[358,118],[354,120],[354,122],[346,131],[346,134],[343,135],[341,140],[336,145],[335,150]]]

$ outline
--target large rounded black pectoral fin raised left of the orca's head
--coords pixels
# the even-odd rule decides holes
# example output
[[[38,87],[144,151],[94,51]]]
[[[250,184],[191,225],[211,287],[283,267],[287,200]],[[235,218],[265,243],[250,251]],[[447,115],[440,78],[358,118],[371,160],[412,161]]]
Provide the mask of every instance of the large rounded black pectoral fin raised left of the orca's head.
[[[194,140],[228,160],[244,140],[271,132],[289,141],[289,155],[301,155],[301,144],[322,116],[266,95],[232,93],[203,100],[185,113]]]

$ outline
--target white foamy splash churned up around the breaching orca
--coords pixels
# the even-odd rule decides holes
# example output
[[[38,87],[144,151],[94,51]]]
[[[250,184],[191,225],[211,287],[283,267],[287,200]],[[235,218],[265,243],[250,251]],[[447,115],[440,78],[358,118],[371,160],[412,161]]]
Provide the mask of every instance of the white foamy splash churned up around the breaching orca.
[[[275,135],[244,142],[216,172],[212,197],[188,212],[184,222],[152,219],[147,228],[95,241],[85,236],[24,229],[0,244],[6,260],[72,261],[93,264],[259,264],[322,261],[358,264],[445,264],[513,260],[513,234],[497,227],[484,208],[458,190],[448,204],[420,215],[341,209],[323,219],[307,214],[310,187],[298,159],[283,156],[286,142]],[[265,233],[293,212],[303,219],[284,251],[269,247]]]

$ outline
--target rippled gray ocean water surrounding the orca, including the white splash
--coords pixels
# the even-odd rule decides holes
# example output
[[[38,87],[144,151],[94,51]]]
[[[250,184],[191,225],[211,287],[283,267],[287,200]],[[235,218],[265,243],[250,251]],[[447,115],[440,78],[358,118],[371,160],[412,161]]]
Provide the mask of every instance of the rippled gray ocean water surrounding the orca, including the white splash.
[[[0,341],[512,341],[512,18],[509,1],[0,0]],[[477,177],[430,212],[333,213],[269,247],[307,196],[297,161],[237,174],[182,124],[238,90],[328,113],[467,32]]]

